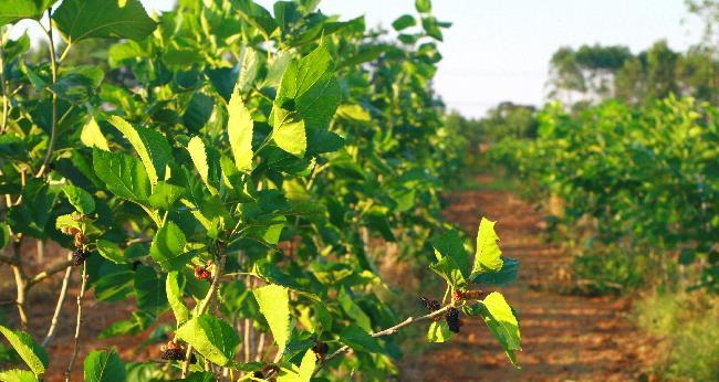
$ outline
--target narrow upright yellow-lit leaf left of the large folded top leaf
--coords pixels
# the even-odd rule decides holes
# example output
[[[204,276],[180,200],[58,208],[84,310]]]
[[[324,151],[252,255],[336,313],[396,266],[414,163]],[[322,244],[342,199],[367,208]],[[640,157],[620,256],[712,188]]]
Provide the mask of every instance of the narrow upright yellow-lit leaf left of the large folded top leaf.
[[[230,98],[228,113],[230,118],[227,123],[227,135],[230,139],[235,165],[238,170],[250,172],[252,171],[252,131],[254,123],[250,112],[242,103],[239,88],[235,91]]]

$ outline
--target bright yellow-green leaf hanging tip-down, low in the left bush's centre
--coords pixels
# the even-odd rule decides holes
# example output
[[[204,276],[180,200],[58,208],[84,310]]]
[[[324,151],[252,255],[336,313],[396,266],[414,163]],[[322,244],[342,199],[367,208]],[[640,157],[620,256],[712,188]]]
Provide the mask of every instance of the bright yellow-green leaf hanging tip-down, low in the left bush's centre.
[[[260,306],[260,312],[270,325],[272,337],[278,343],[280,353],[290,338],[290,293],[279,285],[267,285],[252,290]]]

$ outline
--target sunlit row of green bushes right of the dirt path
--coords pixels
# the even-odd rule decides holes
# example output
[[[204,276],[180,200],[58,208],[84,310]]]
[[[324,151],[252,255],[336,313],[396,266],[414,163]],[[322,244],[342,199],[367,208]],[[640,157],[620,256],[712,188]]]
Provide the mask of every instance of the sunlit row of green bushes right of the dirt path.
[[[559,197],[561,223],[591,217],[596,234],[587,245],[678,254],[679,264],[701,268],[695,287],[717,291],[718,112],[675,97],[640,107],[611,100],[576,115],[551,104],[535,140],[504,140],[492,158]]]

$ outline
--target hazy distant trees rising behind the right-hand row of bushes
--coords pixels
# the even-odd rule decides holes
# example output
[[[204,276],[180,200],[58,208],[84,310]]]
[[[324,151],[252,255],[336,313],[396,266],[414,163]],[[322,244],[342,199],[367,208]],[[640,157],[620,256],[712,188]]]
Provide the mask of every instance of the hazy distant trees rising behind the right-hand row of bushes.
[[[704,38],[686,52],[665,40],[633,53],[625,45],[562,46],[550,61],[548,103],[559,100],[576,115],[607,99],[639,106],[670,95],[719,103],[719,1],[687,0],[690,13],[701,19]],[[535,138],[539,128],[533,105],[502,102],[482,118],[449,114],[447,123],[467,131],[472,144],[504,137]]]

